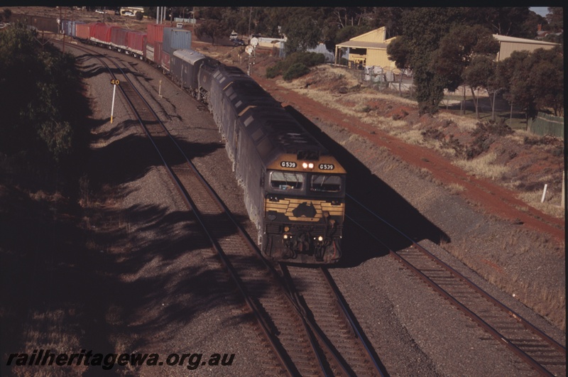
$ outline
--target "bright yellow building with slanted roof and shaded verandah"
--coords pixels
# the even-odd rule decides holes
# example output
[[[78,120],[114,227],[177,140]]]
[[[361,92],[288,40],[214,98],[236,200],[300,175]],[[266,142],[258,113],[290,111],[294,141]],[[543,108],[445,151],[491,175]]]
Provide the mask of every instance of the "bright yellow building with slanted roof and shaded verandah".
[[[347,52],[349,66],[370,67],[375,65],[393,70],[395,62],[388,60],[386,47],[394,38],[385,39],[385,37],[386,29],[383,26],[335,45],[335,64],[339,64],[339,58]]]

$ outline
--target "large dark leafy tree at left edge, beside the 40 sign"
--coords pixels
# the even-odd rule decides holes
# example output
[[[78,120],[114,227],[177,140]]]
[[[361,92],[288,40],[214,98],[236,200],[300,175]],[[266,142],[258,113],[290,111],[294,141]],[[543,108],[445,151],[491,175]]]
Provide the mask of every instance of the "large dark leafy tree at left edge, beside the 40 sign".
[[[73,115],[65,111],[73,109],[68,101],[77,94],[70,88],[80,80],[75,58],[50,45],[40,49],[37,36],[23,24],[0,33],[0,151],[61,160],[74,145]]]

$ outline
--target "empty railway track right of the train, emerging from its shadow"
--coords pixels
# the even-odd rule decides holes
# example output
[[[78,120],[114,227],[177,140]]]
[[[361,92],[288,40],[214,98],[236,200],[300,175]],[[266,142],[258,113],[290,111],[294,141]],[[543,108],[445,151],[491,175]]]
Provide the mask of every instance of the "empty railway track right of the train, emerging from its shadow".
[[[393,258],[513,351],[528,367],[542,376],[566,375],[566,348],[562,344],[555,342],[349,195],[346,208],[346,217],[352,224],[360,226],[373,239],[388,248]],[[398,234],[406,243],[410,241],[411,246],[393,251],[376,237],[376,234],[384,234],[386,231],[389,234]]]

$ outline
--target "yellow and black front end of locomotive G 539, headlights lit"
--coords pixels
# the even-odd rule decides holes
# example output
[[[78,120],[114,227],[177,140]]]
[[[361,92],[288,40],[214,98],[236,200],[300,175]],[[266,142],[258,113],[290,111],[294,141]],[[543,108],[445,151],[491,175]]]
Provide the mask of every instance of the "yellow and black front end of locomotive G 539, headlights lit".
[[[266,170],[263,253],[277,260],[336,263],[342,256],[345,171],[331,156],[283,158]]]

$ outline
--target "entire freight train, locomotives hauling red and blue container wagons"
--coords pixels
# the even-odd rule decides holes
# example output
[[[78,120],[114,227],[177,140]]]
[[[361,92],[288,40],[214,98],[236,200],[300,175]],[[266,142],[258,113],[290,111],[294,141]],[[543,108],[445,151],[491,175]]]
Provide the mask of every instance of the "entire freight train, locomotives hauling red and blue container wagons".
[[[297,263],[340,260],[346,171],[249,75],[192,50],[189,31],[152,25],[140,33],[77,21],[62,26],[74,38],[153,62],[207,104],[244,188],[263,256]]]

